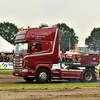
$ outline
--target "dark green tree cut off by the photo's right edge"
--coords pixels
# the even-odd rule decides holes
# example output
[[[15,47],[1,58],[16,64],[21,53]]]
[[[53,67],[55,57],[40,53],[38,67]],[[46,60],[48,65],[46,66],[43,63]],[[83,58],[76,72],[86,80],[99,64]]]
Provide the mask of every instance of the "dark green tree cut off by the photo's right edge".
[[[85,39],[85,44],[89,49],[100,52],[100,28],[94,28],[90,36]]]

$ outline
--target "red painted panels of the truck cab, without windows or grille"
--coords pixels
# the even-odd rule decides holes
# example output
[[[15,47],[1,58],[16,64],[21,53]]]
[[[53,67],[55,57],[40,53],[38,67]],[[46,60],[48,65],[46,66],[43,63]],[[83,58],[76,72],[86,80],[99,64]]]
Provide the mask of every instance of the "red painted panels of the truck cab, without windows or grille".
[[[28,53],[25,53],[22,55],[23,56],[22,57],[23,58],[23,63],[22,63],[23,68],[22,69],[25,69],[27,62],[28,62],[28,66],[29,66],[29,68],[28,68],[29,72],[25,72],[25,73],[34,72],[34,77],[35,77],[36,71],[38,70],[38,68],[46,67],[51,72],[51,68],[52,68],[51,64],[58,63],[59,30],[57,31],[54,51],[52,50],[57,29],[58,29],[58,27],[47,28],[47,29],[30,29],[30,30],[20,31],[17,33],[15,42],[23,41],[23,40],[29,41]],[[31,42],[33,42],[33,41],[34,42],[42,42],[41,52],[30,53],[30,46],[31,46]],[[52,51],[53,51],[53,53],[52,53]],[[41,55],[44,53],[51,53],[51,54]],[[30,56],[30,55],[37,55],[37,54],[38,54],[38,56]],[[19,55],[19,54],[17,54],[17,55]],[[27,55],[29,55],[30,57],[26,57]],[[43,60],[39,60],[41,57],[43,57]],[[14,55],[14,58],[17,58],[16,54]],[[20,55],[19,55],[19,58],[20,58]],[[14,63],[14,64],[16,64],[16,63]],[[14,68],[20,69],[20,66],[17,66],[17,67],[14,66]],[[13,73],[13,75],[15,75],[15,73]],[[22,76],[22,75],[19,73],[19,76]]]

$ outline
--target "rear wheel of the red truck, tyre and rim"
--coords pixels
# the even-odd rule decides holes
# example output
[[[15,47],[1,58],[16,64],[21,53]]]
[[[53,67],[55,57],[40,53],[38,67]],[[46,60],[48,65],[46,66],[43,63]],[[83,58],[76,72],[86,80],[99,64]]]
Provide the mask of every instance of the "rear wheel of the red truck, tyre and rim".
[[[94,74],[91,70],[86,70],[83,75],[84,82],[93,82],[95,80]]]

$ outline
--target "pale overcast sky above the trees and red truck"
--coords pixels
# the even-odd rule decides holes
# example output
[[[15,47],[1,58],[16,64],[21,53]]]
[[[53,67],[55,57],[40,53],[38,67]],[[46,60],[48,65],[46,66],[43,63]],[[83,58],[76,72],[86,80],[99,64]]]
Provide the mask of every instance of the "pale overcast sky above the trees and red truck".
[[[66,23],[79,37],[79,47],[93,28],[100,27],[100,0],[0,0],[0,22],[17,27]]]

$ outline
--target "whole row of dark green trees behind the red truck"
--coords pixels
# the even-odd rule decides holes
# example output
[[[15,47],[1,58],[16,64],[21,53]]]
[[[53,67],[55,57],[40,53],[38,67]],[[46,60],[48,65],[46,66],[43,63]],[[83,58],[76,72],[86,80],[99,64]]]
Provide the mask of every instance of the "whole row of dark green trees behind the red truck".
[[[70,28],[65,23],[57,23],[52,25],[59,28],[59,44],[62,51],[68,51],[69,49],[75,49],[75,44],[78,44],[79,37],[76,36],[73,28]],[[47,24],[41,24],[37,28],[49,27]],[[33,27],[34,28],[34,27]],[[0,36],[5,40],[14,44],[16,33],[20,28],[10,22],[0,23]],[[91,50],[100,51],[100,28],[94,28],[90,35],[85,39],[85,45]]]

